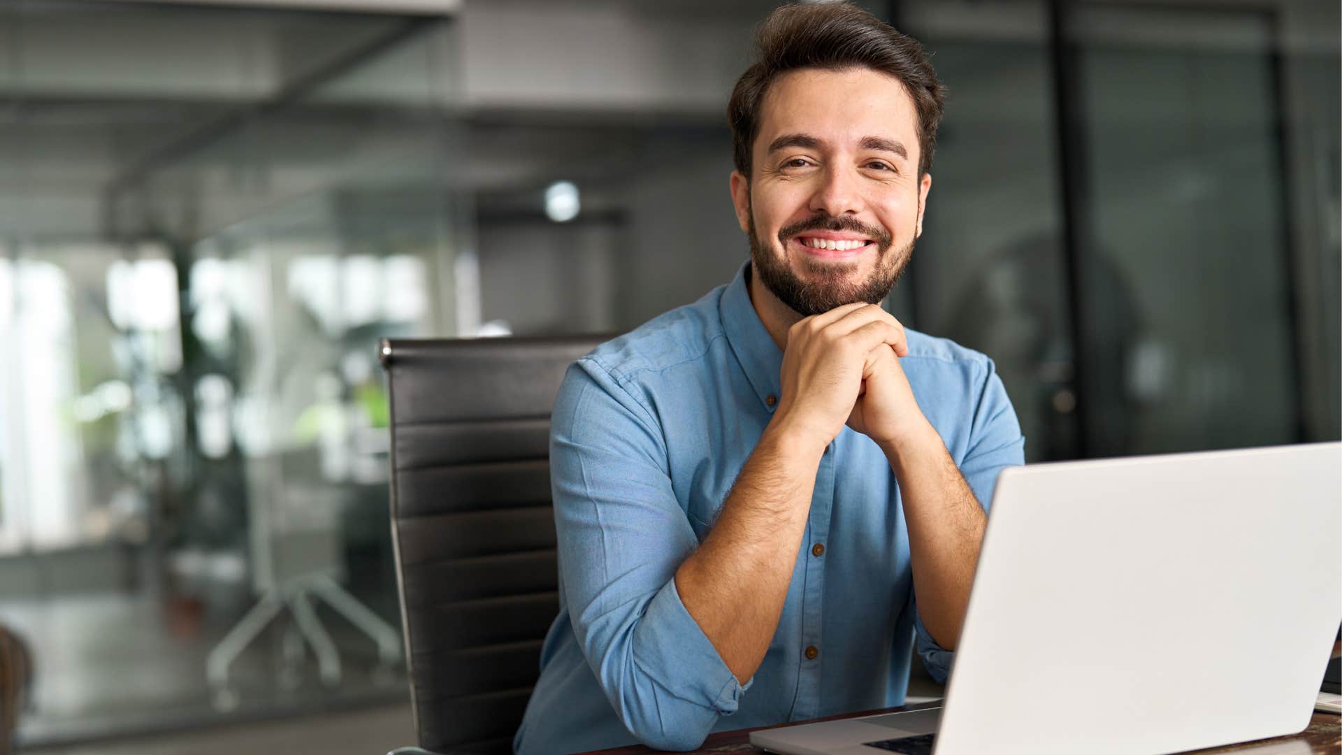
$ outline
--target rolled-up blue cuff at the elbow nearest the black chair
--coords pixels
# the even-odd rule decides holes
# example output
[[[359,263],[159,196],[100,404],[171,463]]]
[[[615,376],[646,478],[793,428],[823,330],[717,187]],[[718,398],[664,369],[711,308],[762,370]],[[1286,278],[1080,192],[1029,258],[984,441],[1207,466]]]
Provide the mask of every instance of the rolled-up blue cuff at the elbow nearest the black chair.
[[[648,602],[639,629],[644,633],[635,643],[639,665],[656,672],[656,678],[667,680],[666,686],[672,695],[711,708],[722,716],[737,712],[741,695],[750,689],[754,677],[743,685],[737,681],[737,676],[680,602],[675,578]]]

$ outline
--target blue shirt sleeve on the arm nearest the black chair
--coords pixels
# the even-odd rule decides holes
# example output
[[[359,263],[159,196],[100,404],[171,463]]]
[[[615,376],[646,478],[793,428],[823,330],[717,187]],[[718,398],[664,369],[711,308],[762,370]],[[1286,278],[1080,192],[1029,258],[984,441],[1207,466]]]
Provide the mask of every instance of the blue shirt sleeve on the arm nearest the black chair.
[[[698,539],[671,488],[658,419],[593,357],[556,399],[550,478],[574,635],[625,728],[692,750],[741,685],[686,610],[675,571]]]

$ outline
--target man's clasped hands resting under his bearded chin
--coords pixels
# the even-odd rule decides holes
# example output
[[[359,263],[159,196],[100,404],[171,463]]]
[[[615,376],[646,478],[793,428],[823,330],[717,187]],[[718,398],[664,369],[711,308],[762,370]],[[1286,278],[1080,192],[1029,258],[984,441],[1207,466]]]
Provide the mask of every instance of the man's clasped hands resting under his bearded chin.
[[[898,414],[906,404],[918,410],[909,380],[895,360],[896,355],[906,353],[903,326],[872,304],[848,304],[797,321],[788,329],[780,375],[782,396],[770,425],[786,429],[788,435],[825,446],[854,416],[867,380],[866,391],[875,391],[875,400],[863,402],[871,408],[864,408],[859,418],[863,425],[855,429],[898,431],[902,425],[891,412]],[[907,402],[899,398],[900,380]]]

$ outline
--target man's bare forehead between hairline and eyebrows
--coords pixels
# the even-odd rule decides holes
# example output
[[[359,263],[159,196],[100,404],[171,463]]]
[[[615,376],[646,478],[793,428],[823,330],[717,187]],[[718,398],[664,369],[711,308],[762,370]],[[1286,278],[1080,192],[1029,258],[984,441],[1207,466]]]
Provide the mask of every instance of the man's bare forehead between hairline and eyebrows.
[[[817,130],[819,129],[819,130]],[[760,102],[757,148],[780,134],[808,133],[821,141],[867,137],[917,141],[918,113],[898,78],[872,69],[800,69],[774,79]],[[917,144],[910,144],[917,149]]]

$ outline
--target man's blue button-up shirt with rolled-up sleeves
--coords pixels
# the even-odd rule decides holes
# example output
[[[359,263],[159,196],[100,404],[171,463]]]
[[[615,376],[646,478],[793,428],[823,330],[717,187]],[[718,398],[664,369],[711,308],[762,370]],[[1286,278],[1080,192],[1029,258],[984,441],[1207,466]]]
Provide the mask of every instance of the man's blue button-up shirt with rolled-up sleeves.
[[[713,731],[900,705],[910,643],[933,677],[950,669],[953,653],[918,618],[890,463],[847,427],[820,462],[782,617],[750,681],[680,602],[676,567],[709,535],[780,392],[782,352],[746,275],[749,265],[569,368],[550,433],[560,615],[517,752],[690,750]],[[986,508],[998,472],[1024,463],[992,360],[909,330],[902,364]]]

